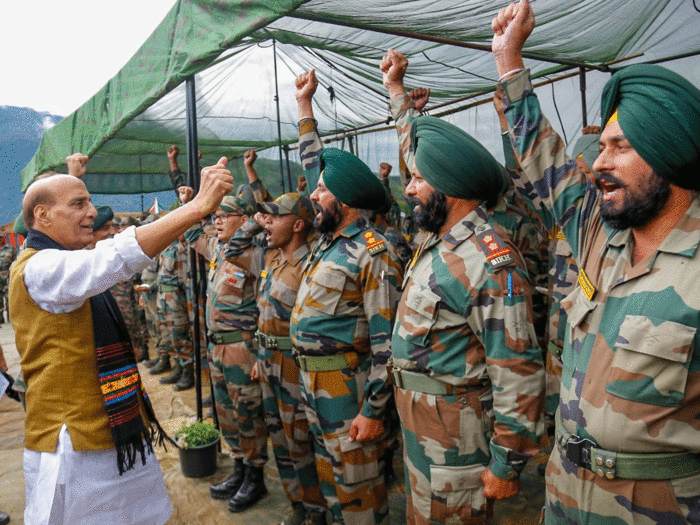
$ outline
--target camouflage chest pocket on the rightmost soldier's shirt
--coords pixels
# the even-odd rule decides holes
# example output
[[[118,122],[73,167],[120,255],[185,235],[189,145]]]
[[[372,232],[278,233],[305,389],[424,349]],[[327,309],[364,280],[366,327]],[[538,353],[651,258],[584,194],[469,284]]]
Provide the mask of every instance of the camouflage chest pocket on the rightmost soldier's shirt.
[[[672,321],[625,316],[605,390],[637,403],[679,406],[695,333],[695,328]]]

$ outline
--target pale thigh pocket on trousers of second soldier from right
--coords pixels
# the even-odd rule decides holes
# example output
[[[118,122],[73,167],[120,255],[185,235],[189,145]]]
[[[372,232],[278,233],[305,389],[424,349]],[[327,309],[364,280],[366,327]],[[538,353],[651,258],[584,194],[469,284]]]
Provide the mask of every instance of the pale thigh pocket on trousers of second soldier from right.
[[[484,470],[484,465],[430,465],[431,523],[433,520],[435,523],[477,523],[469,518],[479,515],[486,520],[486,498],[481,484]]]

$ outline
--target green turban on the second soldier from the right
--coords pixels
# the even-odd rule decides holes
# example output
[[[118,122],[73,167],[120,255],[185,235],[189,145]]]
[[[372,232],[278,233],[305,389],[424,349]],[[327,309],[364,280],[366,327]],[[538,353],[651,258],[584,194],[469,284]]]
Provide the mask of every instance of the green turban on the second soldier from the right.
[[[503,166],[474,137],[436,117],[411,126],[416,168],[436,190],[458,199],[490,200],[505,191]]]

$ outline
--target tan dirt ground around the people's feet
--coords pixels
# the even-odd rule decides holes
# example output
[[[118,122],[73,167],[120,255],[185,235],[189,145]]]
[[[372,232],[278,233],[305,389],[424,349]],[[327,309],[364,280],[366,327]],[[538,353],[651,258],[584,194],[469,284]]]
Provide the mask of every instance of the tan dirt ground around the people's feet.
[[[9,323],[0,326],[0,344],[10,367],[10,375],[16,376],[19,371],[19,355]],[[196,415],[195,391],[191,389],[185,392],[174,392],[171,386],[161,385],[158,377],[150,375],[142,365],[140,368],[141,377],[158,419],[172,436],[184,420]],[[22,519],[24,512],[23,443],[24,412],[19,403],[5,396],[0,399],[0,510],[10,515],[13,525],[24,522]],[[209,496],[209,486],[225,478],[232,469],[233,460],[227,454],[219,454],[218,469],[212,476],[193,479],[182,475],[178,453],[174,447],[168,447],[167,451],[162,448],[157,449],[158,461],[174,508],[167,525],[279,523],[289,504],[272,459],[272,449],[269,452],[270,461],[265,467],[265,478],[270,493],[253,508],[240,514],[233,514],[228,511],[225,500],[214,500]],[[544,483],[536,473],[536,466],[545,460],[546,457],[542,455],[530,462],[521,478],[522,488],[518,496],[496,502],[494,511],[496,524],[535,525],[538,523],[540,509],[544,502]],[[403,465],[400,457],[395,458],[394,466],[399,479],[390,488],[390,517],[392,525],[399,525],[406,522]]]

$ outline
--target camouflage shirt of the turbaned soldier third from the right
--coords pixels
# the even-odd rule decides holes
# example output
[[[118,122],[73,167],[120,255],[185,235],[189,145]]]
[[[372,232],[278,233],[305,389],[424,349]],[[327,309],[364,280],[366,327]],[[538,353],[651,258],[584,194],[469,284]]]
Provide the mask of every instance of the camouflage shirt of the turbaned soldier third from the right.
[[[290,336],[302,354],[371,352],[362,415],[372,419],[383,417],[391,393],[386,364],[402,274],[393,246],[360,218],[321,237],[292,310]]]

